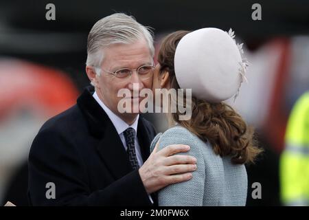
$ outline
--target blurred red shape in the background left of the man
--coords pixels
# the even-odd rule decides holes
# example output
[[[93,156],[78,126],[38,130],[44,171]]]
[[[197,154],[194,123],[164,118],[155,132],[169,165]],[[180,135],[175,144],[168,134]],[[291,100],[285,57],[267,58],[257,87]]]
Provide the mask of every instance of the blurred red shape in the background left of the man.
[[[15,59],[0,60],[0,119],[15,109],[47,117],[76,102],[78,90],[65,73]]]

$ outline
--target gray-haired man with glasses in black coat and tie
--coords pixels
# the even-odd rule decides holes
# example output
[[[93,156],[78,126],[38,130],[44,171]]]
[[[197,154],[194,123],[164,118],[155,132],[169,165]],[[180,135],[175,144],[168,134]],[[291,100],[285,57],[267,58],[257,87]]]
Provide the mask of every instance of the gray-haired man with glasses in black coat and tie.
[[[155,192],[192,177],[196,159],[167,146],[150,155],[155,129],[133,111],[119,113],[119,89],[152,86],[154,47],[150,30],[116,13],[95,23],[87,43],[90,87],[77,104],[45,122],[29,155],[34,206],[150,206]]]

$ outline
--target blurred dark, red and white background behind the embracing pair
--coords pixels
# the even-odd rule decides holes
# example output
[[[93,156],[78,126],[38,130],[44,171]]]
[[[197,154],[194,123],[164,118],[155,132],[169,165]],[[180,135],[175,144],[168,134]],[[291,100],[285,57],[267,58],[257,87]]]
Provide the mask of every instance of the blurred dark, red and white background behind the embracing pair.
[[[47,3],[56,6],[55,21],[45,19]],[[260,21],[251,18],[253,3],[262,7]],[[233,28],[251,65],[249,83],[242,84],[236,102],[228,102],[255,127],[264,148],[258,162],[247,166],[247,206],[285,205],[279,162],[286,124],[297,98],[309,89],[305,0],[0,1],[0,205],[10,200],[27,206],[32,140],[43,122],[75,104],[89,85],[84,72],[87,34],[96,21],[114,12],[154,28],[157,49],[175,30]],[[166,129],[163,115],[146,116],[157,131]],[[304,170],[309,179],[309,162]],[[262,199],[252,198],[253,182],[260,182]],[[309,195],[309,183],[305,187]]]

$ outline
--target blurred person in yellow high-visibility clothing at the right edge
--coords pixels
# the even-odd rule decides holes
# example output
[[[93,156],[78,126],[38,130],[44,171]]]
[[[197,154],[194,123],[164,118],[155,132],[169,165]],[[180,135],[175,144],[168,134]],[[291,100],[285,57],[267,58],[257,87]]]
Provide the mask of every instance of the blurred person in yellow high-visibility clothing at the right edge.
[[[309,91],[290,113],[280,158],[281,199],[285,206],[309,206]]]

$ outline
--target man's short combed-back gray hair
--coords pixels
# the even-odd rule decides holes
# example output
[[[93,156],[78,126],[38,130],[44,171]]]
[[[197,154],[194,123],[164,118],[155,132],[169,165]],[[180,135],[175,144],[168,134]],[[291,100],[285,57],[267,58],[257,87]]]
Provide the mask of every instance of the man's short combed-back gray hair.
[[[142,38],[146,39],[153,57],[155,47],[153,46],[153,33],[149,27],[141,25],[134,17],[123,13],[104,17],[97,21],[89,32],[86,65],[95,67],[95,72],[100,75],[98,70],[103,61],[105,47],[113,43],[134,43]]]

